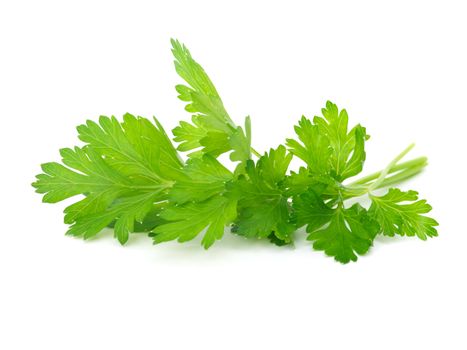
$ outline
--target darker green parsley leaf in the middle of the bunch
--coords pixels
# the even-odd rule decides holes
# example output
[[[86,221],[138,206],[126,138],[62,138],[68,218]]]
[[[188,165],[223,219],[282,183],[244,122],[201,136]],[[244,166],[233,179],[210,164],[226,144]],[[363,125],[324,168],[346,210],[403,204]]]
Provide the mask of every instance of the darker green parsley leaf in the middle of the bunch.
[[[290,222],[288,197],[282,184],[292,159],[284,146],[262,156],[256,165],[246,163],[246,175],[233,182],[230,190],[239,198],[239,215],[235,233],[249,238],[266,238],[271,234],[291,242],[295,227]]]

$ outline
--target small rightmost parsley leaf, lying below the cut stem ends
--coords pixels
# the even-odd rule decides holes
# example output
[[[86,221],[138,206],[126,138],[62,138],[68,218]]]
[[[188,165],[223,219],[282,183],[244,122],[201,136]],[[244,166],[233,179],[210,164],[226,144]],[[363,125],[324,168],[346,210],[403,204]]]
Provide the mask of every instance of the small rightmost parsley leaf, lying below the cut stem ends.
[[[369,214],[379,222],[386,236],[417,236],[422,240],[435,237],[438,222],[422,215],[431,211],[426,200],[418,200],[415,191],[403,192],[397,188],[389,189],[384,196],[370,196],[372,204]]]

